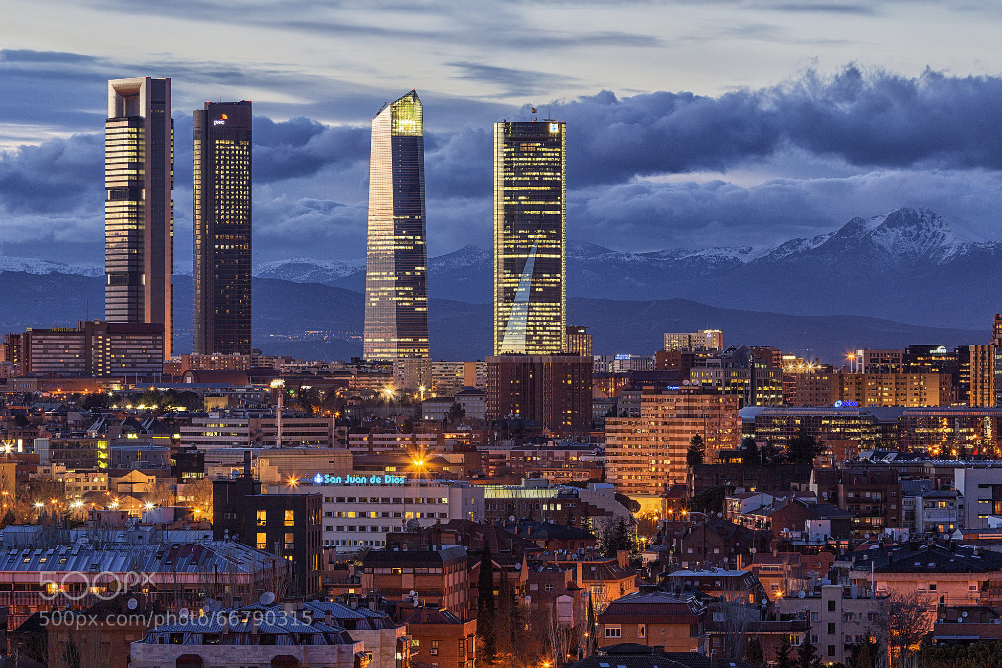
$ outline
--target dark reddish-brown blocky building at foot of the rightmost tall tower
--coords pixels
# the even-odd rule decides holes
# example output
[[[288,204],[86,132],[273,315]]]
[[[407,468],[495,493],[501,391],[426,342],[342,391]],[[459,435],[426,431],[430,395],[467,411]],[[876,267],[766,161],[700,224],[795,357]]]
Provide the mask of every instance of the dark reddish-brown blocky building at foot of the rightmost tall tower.
[[[504,355],[487,358],[487,419],[518,416],[554,434],[591,428],[591,358]]]

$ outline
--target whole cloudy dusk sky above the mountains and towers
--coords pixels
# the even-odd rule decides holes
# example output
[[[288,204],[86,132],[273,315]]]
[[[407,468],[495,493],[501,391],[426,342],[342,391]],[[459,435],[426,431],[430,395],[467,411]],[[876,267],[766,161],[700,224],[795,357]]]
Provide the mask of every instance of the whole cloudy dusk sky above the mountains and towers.
[[[255,260],[365,252],[369,122],[425,105],[430,253],[490,238],[490,125],[568,123],[569,235],[772,245],[899,206],[1002,238],[989,0],[0,0],[0,254],[102,262],[106,80],[255,103]]]

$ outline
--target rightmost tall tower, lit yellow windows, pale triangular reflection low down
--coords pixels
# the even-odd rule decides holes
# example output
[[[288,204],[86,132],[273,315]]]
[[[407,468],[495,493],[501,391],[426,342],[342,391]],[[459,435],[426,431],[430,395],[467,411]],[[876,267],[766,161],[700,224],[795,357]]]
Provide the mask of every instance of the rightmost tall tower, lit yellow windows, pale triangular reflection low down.
[[[494,124],[494,355],[566,350],[566,124]]]

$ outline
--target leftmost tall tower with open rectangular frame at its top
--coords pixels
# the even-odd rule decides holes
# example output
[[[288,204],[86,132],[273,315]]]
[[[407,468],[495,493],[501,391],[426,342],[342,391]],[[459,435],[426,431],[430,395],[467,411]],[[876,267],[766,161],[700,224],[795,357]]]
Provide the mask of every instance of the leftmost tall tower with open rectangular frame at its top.
[[[170,79],[108,81],[104,318],[163,324],[170,357],[174,121]]]

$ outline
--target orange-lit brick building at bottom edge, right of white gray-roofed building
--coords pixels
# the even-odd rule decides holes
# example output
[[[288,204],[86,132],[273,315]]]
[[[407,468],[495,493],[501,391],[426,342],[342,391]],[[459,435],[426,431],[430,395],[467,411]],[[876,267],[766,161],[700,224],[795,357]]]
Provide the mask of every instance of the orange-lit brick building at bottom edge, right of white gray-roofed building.
[[[459,548],[462,549],[462,548]],[[412,656],[439,668],[468,668],[477,661],[477,620],[425,604],[404,617]]]

